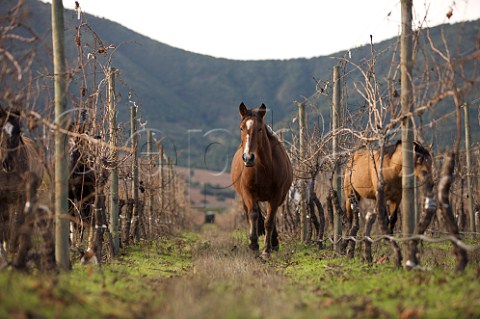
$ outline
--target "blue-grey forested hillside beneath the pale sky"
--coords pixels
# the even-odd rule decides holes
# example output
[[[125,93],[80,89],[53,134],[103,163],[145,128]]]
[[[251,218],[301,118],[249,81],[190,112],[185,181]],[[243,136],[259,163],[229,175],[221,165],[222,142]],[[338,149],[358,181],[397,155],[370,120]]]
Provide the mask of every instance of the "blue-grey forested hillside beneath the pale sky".
[[[38,50],[35,69],[48,74],[52,70],[49,53],[50,5],[37,0],[28,0],[27,3],[29,14],[24,23],[39,36],[35,42]],[[2,7],[8,8],[5,5]],[[81,22],[83,25],[80,27]],[[353,89],[353,83],[361,78],[354,64],[367,69],[364,63],[371,58],[372,52],[369,45],[311,59],[233,61],[176,49],[106,19],[86,15],[83,21],[79,21],[77,13],[69,11],[66,13],[67,63],[72,70],[79,65],[76,42],[79,27],[80,55],[84,61],[88,60],[89,53],[97,52],[102,45],[110,47],[107,54],[111,57],[111,65],[120,71],[118,82],[121,84],[117,88],[123,97],[119,105],[121,120],[128,119],[127,96],[131,93],[132,99],[140,106],[143,122],[147,121],[146,126],[168,136],[177,152],[188,152],[195,166],[223,167],[224,154],[231,154],[238,144],[237,108],[240,102],[251,107],[265,103],[271,110],[268,122],[274,129],[279,129],[295,116],[293,101],[314,95],[316,81],[329,81],[332,67],[339,58],[349,57],[352,62],[345,66],[345,83],[350,90],[347,105],[356,110],[364,104]],[[478,46],[479,21],[446,25],[444,28],[452,53],[467,55],[475,50],[475,45]],[[431,30],[432,39],[438,43],[441,43],[441,29],[436,27]],[[375,37],[373,40],[375,42]],[[322,41],[321,37],[318,41]],[[367,41],[369,39],[365,39]],[[391,39],[374,44],[378,78],[386,75],[396,41]],[[422,66],[417,65],[416,68],[421,70]],[[78,90],[81,80],[80,76],[73,76],[72,91]],[[314,103],[328,124],[331,100],[328,84],[326,89],[326,94],[320,95]],[[219,128],[226,131],[216,136],[208,134],[210,130]],[[192,133],[191,130],[201,131]],[[210,147],[212,143],[216,147]],[[208,155],[205,155],[206,149],[210,152]],[[179,163],[186,165],[185,157],[182,159],[183,162]]]

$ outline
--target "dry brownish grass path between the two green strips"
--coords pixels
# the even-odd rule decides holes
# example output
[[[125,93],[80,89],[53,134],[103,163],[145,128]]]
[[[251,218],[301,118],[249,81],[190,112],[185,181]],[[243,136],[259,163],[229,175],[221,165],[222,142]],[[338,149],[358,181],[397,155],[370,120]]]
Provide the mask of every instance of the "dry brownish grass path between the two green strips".
[[[154,316],[162,318],[294,318],[301,296],[244,241],[217,230],[202,233],[193,271],[162,282]]]

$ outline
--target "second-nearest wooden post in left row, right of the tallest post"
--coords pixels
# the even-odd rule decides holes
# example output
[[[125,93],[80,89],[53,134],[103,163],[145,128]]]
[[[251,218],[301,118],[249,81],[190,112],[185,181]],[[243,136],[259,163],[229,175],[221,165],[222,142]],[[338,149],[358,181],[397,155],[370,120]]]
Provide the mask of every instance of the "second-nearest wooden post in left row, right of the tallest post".
[[[110,171],[110,234],[112,236],[113,256],[118,256],[120,251],[119,231],[119,198],[118,198],[118,152],[117,152],[117,103],[115,99],[115,68],[110,68],[108,78],[108,107],[110,115],[110,149],[114,166]]]

